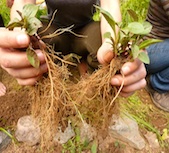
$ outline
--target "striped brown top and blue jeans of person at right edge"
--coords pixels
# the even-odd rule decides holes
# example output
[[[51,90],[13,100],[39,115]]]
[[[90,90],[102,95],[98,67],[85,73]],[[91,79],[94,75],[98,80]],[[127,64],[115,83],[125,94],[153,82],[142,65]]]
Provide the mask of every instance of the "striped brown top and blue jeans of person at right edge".
[[[153,26],[149,37],[164,41],[147,48],[150,64],[145,66],[153,89],[166,93],[169,91],[169,0],[150,0],[147,21]]]

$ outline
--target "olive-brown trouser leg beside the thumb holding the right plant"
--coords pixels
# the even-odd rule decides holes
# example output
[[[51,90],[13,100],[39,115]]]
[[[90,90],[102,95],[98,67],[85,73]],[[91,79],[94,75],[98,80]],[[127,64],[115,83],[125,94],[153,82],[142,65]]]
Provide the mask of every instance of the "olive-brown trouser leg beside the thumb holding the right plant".
[[[75,37],[72,43],[72,50],[81,56],[86,57],[87,63],[97,68],[97,51],[101,46],[100,22],[91,22],[83,28],[77,29],[75,33],[85,37]]]

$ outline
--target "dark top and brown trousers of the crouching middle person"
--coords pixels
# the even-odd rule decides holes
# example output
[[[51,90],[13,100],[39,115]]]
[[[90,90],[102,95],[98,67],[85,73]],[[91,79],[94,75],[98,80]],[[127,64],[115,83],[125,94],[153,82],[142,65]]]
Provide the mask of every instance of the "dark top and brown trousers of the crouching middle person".
[[[95,12],[93,4],[97,3],[98,0],[46,0],[49,19],[56,9],[57,13],[52,25],[43,35],[74,25],[72,31],[83,37],[64,32],[44,41],[53,45],[56,52],[62,52],[63,55],[76,53],[92,68],[97,68],[99,63],[96,55],[101,46],[100,22],[92,19]],[[46,26],[44,23],[43,28]]]

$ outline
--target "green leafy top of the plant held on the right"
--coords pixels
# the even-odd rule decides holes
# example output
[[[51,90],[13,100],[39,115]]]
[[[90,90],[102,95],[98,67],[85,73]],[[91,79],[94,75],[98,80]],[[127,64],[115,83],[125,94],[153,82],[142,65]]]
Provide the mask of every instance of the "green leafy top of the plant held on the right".
[[[152,29],[151,24],[147,21],[138,22],[137,14],[129,10],[128,12],[134,21],[122,27],[121,23],[115,22],[109,12],[98,6],[95,7],[100,10],[114,32],[114,37],[111,36],[110,32],[105,33],[104,37],[111,40],[115,58],[125,56],[125,58],[128,58],[128,61],[138,58],[142,62],[149,64],[150,60],[144,49],[153,43],[161,42],[161,40],[158,39],[144,40],[144,37],[148,35]]]

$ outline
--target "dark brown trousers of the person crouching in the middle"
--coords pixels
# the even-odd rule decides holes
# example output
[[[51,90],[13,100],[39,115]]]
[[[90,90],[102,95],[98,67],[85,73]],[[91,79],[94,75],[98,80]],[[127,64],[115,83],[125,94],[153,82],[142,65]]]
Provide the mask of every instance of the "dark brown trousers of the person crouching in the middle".
[[[53,33],[55,30],[56,25],[52,24],[43,35]],[[43,41],[51,44],[56,52],[62,52],[63,55],[75,53],[81,56],[82,60],[87,61],[91,68],[97,68],[99,65],[97,51],[102,44],[100,22],[91,22],[82,28],[74,29],[74,32],[83,37],[75,36],[70,32],[64,32],[61,35]]]

